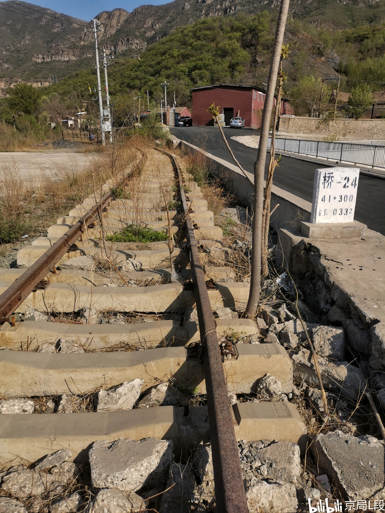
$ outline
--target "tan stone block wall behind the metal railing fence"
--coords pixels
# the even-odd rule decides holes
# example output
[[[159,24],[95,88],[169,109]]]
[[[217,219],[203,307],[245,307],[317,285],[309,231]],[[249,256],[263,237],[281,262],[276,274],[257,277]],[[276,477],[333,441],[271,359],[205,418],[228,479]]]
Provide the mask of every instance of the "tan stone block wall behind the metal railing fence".
[[[318,117],[280,117],[279,132],[335,135],[353,140],[383,139],[385,119],[383,120],[322,120]]]

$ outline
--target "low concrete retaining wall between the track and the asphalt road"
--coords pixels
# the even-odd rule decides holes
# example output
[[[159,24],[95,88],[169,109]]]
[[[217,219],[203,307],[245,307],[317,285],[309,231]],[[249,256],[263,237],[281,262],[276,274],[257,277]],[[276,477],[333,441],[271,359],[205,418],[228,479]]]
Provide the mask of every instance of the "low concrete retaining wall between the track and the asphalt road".
[[[206,155],[211,164],[211,173],[220,176],[225,182],[226,189],[233,192],[244,206],[253,206],[254,187],[235,164],[230,164],[185,141],[175,139],[175,143],[184,146],[191,152],[198,151]],[[254,181],[252,173],[247,173],[247,175]],[[279,207],[274,211],[270,221],[272,228],[277,230],[278,228],[297,227],[301,221],[310,221],[312,211],[312,204],[310,202],[302,200],[302,198],[273,185],[272,210],[277,204],[279,204]]]

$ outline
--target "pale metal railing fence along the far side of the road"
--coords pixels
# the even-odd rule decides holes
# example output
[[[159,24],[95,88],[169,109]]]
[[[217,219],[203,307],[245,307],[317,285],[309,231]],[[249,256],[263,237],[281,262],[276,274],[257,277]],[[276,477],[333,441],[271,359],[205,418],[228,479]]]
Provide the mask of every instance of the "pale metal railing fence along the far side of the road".
[[[305,141],[303,139],[277,138],[276,151],[287,151],[306,156],[322,157],[336,163],[362,164],[385,169],[385,146],[361,143],[329,143],[326,141]],[[268,147],[271,145],[271,137]]]

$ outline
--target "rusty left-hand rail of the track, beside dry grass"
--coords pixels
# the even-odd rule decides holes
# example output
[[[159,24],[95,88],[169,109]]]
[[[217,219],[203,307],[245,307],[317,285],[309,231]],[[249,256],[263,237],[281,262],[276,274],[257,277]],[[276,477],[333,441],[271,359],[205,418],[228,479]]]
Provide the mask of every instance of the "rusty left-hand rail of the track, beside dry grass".
[[[135,170],[142,168],[147,160],[146,155],[142,152],[141,161],[134,167]],[[128,177],[128,173],[118,184],[117,188],[124,185]],[[101,201],[92,207],[88,212],[75,223],[71,228],[66,231],[61,238],[56,241],[41,257],[31,265],[20,278],[17,278],[5,292],[0,295],[0,323],[9,321],[10,315],[15,309],[23,303],[28,295],[35,288],[36,284],[40,282],[54,267],[63,255],[67,252],[70,246],[79,239],[79,237],[86,231],[87,225],[90,221],[95,220],[98,211],[101,213],[104,205],[111,201],[111,191],[103,196]]]

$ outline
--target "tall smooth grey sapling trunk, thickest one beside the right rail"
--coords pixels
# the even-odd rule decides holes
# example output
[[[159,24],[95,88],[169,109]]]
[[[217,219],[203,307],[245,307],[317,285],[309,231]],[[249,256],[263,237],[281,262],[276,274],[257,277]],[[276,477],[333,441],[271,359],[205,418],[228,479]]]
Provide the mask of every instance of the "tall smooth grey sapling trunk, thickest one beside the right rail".
[[[257,311],[259,294],[261,291],[261,237],[266,150],[289,2],[290,0],[281,0],[279,8],[273,55],[268,74],[268,85],[266,88],[265,104],[261,120],[258,156],[254,164],[254,215],[252,225],[253,251],[251,261],[250,293],[245,309],[246,317],[254,317],[255,312]]]

